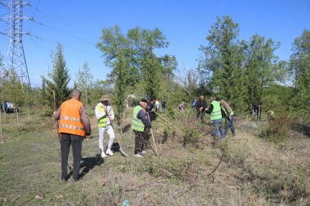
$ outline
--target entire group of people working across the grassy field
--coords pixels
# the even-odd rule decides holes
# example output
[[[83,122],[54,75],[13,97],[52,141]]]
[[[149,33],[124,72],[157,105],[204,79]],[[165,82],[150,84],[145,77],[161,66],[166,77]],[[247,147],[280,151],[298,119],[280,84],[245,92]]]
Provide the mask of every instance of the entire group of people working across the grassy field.
[[[70,145],[72,145],[74,169],[72,177],[74,181],[81,180],[82,176],[79,174],[81,163],[81,150],[83,138],[90,138],[91,129],[90,121],[87,117],[87,112],[83,103],[80,101],[81,91],[74,89],[71,94],[71,99],[65,101],[59,107],[59,110],[54,112],[54,119],[59,121],[59,133],[61,134],[61,180],[66,182],[68,179],[68,156]],[[105,158],[107,155],[112,156],[112,145],[115,134],[112,122],[114,121],[113,107],[109,103],[110,99],[107,95],[103,95],[100,102],[95,107],[96,119],[99,126],[99,150],[101,157]],[[232,135],[236,135],[234,130],[234,112],[226,101],[220,98],[210,98],[211,105],[207,105],[205,96],[200,95],[196,101],[196,119],[202,120],[205,113],[210,114],[214,125],[214,133],[216,140],[225,138],[226,132],[231,128]],[[134,131],[134,157],[143,157],[145,154],[145,143],[148,140],[148,133],[151,130],[151,122],[154,121],[158,110],[158,101],[155,96],[149,98],[146,96],[141,99],[139,104],[134,107],[132,115],[132,130]],[[164,108],[164,107],[163,107]],[[179,110],[184,109],[184,103],[179,106]],[[222,118],[225,118],[225,130],[222,127]],[[105,132],[109,134],[109,141],[107,148],[103,147]]]

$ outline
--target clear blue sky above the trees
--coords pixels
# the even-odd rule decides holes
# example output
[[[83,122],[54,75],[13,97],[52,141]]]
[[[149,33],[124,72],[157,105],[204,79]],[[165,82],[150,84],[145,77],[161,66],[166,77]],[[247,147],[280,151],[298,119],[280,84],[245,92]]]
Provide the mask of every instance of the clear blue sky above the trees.
[[[9,2],[8,0],[1,0]],[[40,75],[52,68],[52,51],[57,43],[64,48],[65,61],[72,80],[85,61],[89,63],[94,79],[105,79],[111,71],[103,64],[102,53],[95,48],[102,28],[119,25],[123,33],[139,26],[154,30],[158,28],[169,41],[169,48],[158,54],[175,55],[178,67],[196,68],[196,59],[202,55],[198,50],[207,44],[205,37],[216,17],[230,16],[239,24],[238,39],[249,40],[253,34],[280,42],[276,55],[288,60],[293,39],[302,30],[310,29],[310,1],[103,1],[103,0],[28,0],[32,7],[23,8],[25,17],[34,17],[38,23],[23,22],[23,49],[28,65],[30,82],[41,85]],[[0,17],[10,10],[0,5]],[[9,32],[10,25],[0,21],[0,31]],[[0,34],[0,52],[6,58],[9,37]],[[70,85],[73,85],[70,83]]]

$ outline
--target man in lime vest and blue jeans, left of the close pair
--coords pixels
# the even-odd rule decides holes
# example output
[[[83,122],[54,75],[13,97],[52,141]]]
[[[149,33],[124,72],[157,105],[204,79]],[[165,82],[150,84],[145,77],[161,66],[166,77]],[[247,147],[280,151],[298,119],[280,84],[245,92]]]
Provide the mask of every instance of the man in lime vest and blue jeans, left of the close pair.
[[[220,138],[225,138],[225,131],[222,127],[222,112],[220,112],[220,103],[210,97],[211,105],[205,109],[207,114],[211,114],[210,119],[213,121],[214,133],[216,135],[216,140]]]

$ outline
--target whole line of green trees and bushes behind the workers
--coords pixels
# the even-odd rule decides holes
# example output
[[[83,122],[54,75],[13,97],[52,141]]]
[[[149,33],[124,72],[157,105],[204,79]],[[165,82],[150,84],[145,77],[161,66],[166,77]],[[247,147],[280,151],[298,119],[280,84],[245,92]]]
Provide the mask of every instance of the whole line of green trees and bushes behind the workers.
[[[259,34],[253,34],[249,40],[238,39],[239,30],[238,23],[231,17],[217,17],[206,42],[198,48],[202,53],[198,68],[180,71],[176,56],[156,54],[169,46],[165,34],[158,28],[136,27],[125,33],[118,25],[103,28],[96,48],[112,70],[105,80],[94,81],[85,61],[75,74],[74,87],[82,90],[86,107],[96,105],[101,94],[111,94],[120,125],[128,96],[141,99],[146,94],[165,99],[173,107],[203,93],[220,96],[239,114],[247,112],[251,103],[262,103],[270,110],[283,110],[292,118],[309,121],[310,30],[303,30],[293,41],[289,61],[280,60],[274,54],[280,43]],[[71,75],[61,43],[52,54],[52,70],[47,76],[41,76],[41,87],[32,88],[31,95],[23,90],[25,87],[18,81],[17,74],[4,67],[3,56],[0,67],[1,101],[21,106],[44,105],[45,110],[52,110],[52,90],[57,105],[70,98]]]

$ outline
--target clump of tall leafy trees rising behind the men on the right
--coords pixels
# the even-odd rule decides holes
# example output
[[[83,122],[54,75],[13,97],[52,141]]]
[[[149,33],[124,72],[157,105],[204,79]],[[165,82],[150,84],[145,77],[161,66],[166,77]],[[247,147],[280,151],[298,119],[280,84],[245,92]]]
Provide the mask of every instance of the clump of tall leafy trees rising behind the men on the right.
[[[262,101],[262,91],[279,79],[285,64],[278,64],[273,54],[279,43],[258,34],[239,41],[238,34],[238,23],[231,17],[218,17],[206,38],[208,45],[200,46],[205,56],[198,71],[213,94],[229,101],[234,110],[245,112],[249,103]]]

